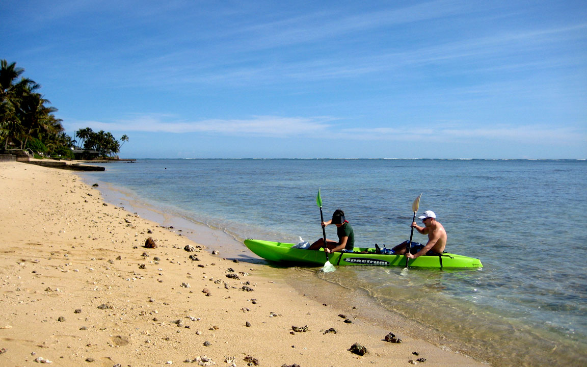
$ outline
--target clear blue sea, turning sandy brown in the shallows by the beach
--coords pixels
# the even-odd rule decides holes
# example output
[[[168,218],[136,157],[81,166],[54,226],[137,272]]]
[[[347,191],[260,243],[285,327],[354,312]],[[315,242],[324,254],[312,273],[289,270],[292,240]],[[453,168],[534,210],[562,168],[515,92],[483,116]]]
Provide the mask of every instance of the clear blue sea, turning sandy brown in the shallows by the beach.
[[[321,237],[320,186],[325,216],[343,209],[356,245],[391,247],[409,237],[423,193],[419,212],[436,212],[446,250],[480,258],[483,270],[315,276],[365,289],[437,329],[440,344],[495,365],[587,365],[584,160],[138,160],[84,176],[238,240]]]

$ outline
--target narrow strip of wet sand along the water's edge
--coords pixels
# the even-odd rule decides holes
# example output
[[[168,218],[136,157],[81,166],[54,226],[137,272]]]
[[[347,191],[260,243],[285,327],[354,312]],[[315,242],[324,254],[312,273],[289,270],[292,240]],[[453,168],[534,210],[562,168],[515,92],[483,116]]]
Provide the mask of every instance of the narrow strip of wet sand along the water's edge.
[[[104,200],[107,202],[119,204],[127,211],[135,214],[138,213],[141,217],[164,225],[165,227],[171,226],[171,231],[180,231],[190,240],[205,245],[208,252],[217,250],[220,251],[220,254],[228,257],[229,260],[237,259],[239,261],[250,262],[251,264],[261,264],[262,267],[277,267],[278,272],[275,272],[274,276],[279,277],[289,287],[294,288],[299,295],[309,297],[319,304],[326,302],[326,304],[338,309],[353,309],[355,317],[361,318],[369,324],[382,325],[392,329],[394,325],[402,324],[402,329],[407,331],[405,334],[421,335],[421,339],[438,348],[463,353],[478,361],[484,361],[486,365],[490,365],[490,362],[485,360],[483,356],[465,352],[463,345],[450,341],[440,330],[430,328],[421,324],[419,321],[414,321],[406,317],[406,315],[390,311],[388,308],[383,307],[383,305],[376,304],[364,289],[353,290],[352,288],[343,287],[324,278],[316,277],[315,272],[317,268],[279,267],[279,265],[270,264],[249,251],[241,241],[235,238],[235,235],[226,233],[218,228],[210,227],[205,223],[189,220],[178,214],[161,211],[160,208],[141,201],[129,191],[124,191],[109,182],[83,174],[82,180],[85,180],[88,185],[99,183],[97,190],[100,191]],[[308,287],[308,282],[311,282],[313,286]],[[328,291],[325,291],[325,289],[328,289]],[[356,305],[360,305],[360,308],[355,308]]]

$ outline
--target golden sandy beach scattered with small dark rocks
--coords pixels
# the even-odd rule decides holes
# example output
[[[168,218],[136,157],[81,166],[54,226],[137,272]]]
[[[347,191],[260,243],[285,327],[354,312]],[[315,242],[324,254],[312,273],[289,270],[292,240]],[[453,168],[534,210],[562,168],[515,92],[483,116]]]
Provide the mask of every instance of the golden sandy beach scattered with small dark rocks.
[[[71,171],[0,163],[0,217],[2,366],[487,366],[301,294],[279,269],[211,254]]]

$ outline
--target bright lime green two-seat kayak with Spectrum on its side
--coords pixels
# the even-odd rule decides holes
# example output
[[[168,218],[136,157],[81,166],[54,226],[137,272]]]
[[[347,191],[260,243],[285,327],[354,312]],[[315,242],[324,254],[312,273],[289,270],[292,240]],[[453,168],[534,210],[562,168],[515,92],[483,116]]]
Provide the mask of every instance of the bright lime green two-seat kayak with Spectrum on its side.
[[[245,246],[265,260],[278,262],[291,262],[306,265],[324,265],[326,255],[324,250],[304,250],[292,248],[294,244],[263,240],[245,240]],[[334,252],[330,254],[332,265],[382,265],[382,266],[406,266],[406,257],[403,255],[375,254],[375,248],[357,248],[355,252]],[[463,255],[444,254],[424,255],[408,262],[410,267],[420,268],[483,268],[477,258]]]

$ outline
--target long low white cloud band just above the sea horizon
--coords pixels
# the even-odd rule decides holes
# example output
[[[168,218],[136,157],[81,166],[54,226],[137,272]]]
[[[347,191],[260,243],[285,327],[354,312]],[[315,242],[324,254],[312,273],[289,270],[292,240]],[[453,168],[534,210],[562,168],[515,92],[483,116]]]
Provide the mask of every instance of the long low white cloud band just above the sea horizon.
[[[175,120],[171,115],[137,115],[112,123],[78,121],[68,123],[72,130],[92,126],[93,130],[115,132],[200,133],[237,137],[317,137],[347,141],[393,142],[484,142],[580,144],[587,142],[587,129],[546,125],[472,127],[466,123],[436,126],[413,124],[404,127],[344,127],[332,117],[254,116],[250,119]]]

